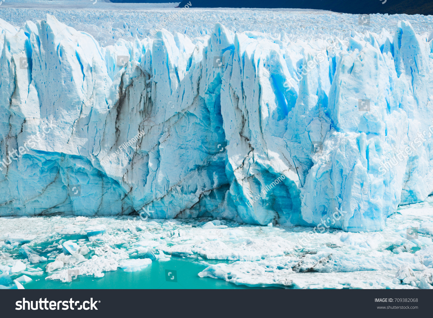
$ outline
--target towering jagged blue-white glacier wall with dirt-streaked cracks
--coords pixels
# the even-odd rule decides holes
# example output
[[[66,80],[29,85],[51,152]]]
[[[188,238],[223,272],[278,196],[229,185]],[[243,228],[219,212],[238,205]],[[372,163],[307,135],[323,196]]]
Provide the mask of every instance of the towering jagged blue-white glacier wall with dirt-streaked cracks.
[[[408,22],[297,42],[216,24],[107,47],[50,15],[0,28],[2,216],[373,231],[433,191],[432,36]]]

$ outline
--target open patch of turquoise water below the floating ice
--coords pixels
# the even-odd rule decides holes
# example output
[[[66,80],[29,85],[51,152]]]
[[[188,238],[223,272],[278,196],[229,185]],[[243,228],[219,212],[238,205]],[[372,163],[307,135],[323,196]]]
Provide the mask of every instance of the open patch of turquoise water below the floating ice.
[[[78,276],[72,282],[45,280],[44,276],[32,276],[32,281],[24,284],[26,289],[252,289],[247,286],[236,286],[222,279],[200,278],[197,276],[207,266],[192,259],[172,257],[167,262],[152,262],[138,272],[124,272],[118,269],[105,272],[102,278]],[[165,279],[165,270],[176,271],[177,282]],[[36,281],[36,279],[39,279]],[[261,287],[257,287],[261,288]]]

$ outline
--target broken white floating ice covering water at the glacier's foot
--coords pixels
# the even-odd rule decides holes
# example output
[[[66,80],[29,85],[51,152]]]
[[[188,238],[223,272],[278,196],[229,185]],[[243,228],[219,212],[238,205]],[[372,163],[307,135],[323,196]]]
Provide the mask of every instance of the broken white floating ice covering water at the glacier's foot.
[[[209,221],[218,227],[204,227]],[[97,226],[105,227],[107,232],[86,237],[86,229]],[[418,233],[409,240],[407,229],[411,227],[417,228]],[[76,235],[72,240],[63,234],[71,228]],[[433,197],[421,204],[399,208],[380,232],[330,229],[296,255],[289,255],[288,251],[310,230],[310,227],[259,227],[209,219],[1,217],[0,281],[3,277],[3,282],[13,287],[13,280],[17,279],[25,287],[29,279],[38,279],[47,271],[46,279],[68,282],[71,273],[103,277],[107,271],[137,271],[152,261],[186,257],[203,264],[213,260],[213,264],[197,273],[200,277],[224,279],[237,285],[433,288]],[[8,240],[21,236],[29,238],[28,243]],[[65,241],[76,243],[78,253],[65,255]],[[20,253],[23,247],[46,255],[48,266],[46,262],[30,263]]]

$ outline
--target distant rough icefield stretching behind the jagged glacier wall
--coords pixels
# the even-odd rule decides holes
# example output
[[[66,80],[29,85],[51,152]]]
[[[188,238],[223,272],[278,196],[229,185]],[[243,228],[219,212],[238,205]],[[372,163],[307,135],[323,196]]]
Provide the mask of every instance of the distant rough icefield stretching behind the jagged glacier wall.
[[[48,4],[47,4],[48,3]],[[211,35],[216,23],[223,24],[231,32],[264,32],[273,37],[281,31],[291,41],[329,36],[344,36],[350,32],[371,31],[380,33],[382,28],[393,33],[398,21],[409,21],[417,34],[433,30],[432,16],[373,14],[370,24],[360,25],[359,16],[305,9],[231,9],[194,8],[184,10],[176,19],[169,19],[181,8],[179,3],[96,3],[81,1],[46,1],[32,3],[4,2],[0,6],[0,18],[22,26],[26,21],[46,19],[54,15],[61,23],[79,31],[88,32],[100,45],[115,45],[118,39],[133,42],[143,40],[160,24],[169,32],[180,32],[190,38]],[[31,9],[28,9],[28,8]],[[166,23],[164,25],[164,23]]]

